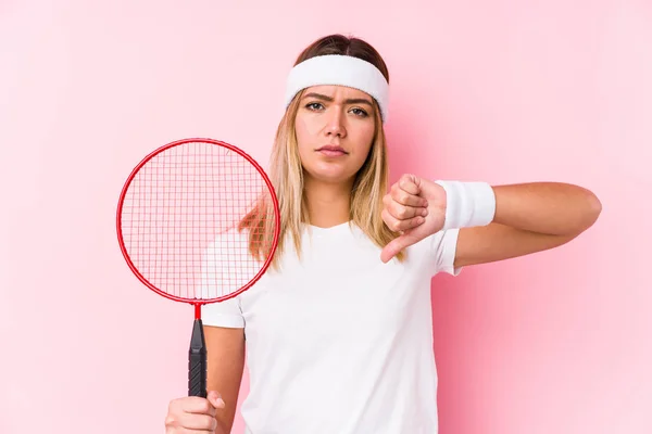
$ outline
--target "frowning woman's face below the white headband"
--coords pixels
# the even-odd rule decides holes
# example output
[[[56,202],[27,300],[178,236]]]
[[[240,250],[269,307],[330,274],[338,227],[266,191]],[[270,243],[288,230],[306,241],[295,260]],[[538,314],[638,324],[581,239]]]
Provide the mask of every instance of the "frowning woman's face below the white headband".
[[[297,112],[299,155],[306,178],[351,182],[374,139],[372,97],[342,86],[308,88]]]

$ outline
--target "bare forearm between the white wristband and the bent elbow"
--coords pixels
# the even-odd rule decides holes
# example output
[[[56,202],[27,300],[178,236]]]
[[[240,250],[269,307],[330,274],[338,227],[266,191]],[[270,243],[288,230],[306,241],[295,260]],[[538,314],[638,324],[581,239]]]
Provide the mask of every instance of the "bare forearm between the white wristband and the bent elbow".
[[[493,222],[551,235],[572,235],[590,228],[602,205],[589,190],[562,182],[493,186]]]

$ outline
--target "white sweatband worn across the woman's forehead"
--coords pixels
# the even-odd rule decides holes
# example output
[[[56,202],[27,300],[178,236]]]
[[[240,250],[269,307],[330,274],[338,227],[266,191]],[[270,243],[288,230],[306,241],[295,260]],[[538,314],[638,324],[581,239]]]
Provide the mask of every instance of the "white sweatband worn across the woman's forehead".
[[[346,86],[368,93],[380,106],[383,122],[387,120],[389,85],[383,73],[373,64],[340,54],[305,60],[290,71],[286,85],[286,107],[298,92],[319,85]]]

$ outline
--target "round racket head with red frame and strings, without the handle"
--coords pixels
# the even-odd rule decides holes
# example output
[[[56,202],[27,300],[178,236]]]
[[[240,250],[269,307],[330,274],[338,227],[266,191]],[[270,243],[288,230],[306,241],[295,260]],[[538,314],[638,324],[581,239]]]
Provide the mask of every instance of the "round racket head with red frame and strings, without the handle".
[[[217,203],[210,203],[216,195]],[[262,241],[266,254],[263,259],[253,259],[244,252],[249,237],[234,232],[261,200],[267,210],[267,231]],[[196,221],[197,218],[201,221]],[[183,229],[177,230],[178,227]],[[188,229],[189,233],[184,232]],[[280,210],[269,178],[249,154],[221,140],[189,138],[160,146],[131,170],[120,194],[116,231],[128,267],[146,286],[166,298],[200,306],[235,297],[264,275],[278,245]],[[180,245],[171,247],[170,244],[177,242]],[[147,254],[152,247],[159,257]],[[227,252],[223,256],[224,250]],[[205,267],[216,257],[224,258],[225,267],[248,266],[244,271],[236,272],[239,279],[231,278],[228,291],[221,291],[220,295],[216,291],[201,291],[206,283],[202,281]],[[165,277],[153,276],[155,272],[148,267],[152,259],[159,267],[165,266],[165,259],[171,260],[176,267],[173,278],[168,268]],[[184,267],[191,269],[179,271]],[[172,291],[171,284],[174,286],[183,279],[191,282],[192,289],[187,288],[185,294]]]

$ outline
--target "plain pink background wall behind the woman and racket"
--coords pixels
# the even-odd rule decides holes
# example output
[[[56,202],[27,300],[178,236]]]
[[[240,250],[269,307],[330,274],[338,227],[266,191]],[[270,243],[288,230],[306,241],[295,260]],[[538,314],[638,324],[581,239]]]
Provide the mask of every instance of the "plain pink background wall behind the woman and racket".
[[[120,190],[186,137],[266,165],[289,67],[335,31],[389,64],[392,179],[603,203],[568,245],[434,279],[441,433],[652,432],[649,1],[90,3],[0,3],[1,433],[164,431],[192,309],[127,268]]]

